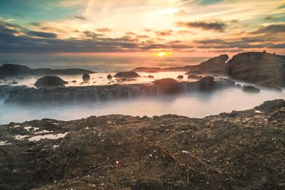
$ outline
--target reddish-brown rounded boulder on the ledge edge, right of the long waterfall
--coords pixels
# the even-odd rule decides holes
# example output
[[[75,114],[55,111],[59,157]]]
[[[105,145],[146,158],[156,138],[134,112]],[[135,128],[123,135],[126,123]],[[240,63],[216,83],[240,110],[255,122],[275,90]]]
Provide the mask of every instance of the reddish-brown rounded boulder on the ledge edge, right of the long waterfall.
[[[160,86],[162,91],[166,94],[175,94],[180,91],[179,83],[173,78],[162,78],[160,80],[153,81],[153,83]]]

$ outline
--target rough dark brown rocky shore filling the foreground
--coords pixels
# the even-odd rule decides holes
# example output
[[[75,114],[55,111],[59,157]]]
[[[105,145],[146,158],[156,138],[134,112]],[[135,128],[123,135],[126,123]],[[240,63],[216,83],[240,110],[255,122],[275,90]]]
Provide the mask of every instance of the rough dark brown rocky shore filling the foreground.
[[[1,125],[0,189],[284,189],[284,118],[273,100],[202,119]]]

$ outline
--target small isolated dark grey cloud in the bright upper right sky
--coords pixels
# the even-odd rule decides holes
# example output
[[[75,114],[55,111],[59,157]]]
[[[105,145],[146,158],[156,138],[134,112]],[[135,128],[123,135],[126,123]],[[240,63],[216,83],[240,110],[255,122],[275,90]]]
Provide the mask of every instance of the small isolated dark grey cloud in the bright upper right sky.
[[[196,21],[196,22],[177,22],[176,26],[185,28],[201,28],[202,30],[213,30],[223,32],[227,27],[226,23],[219,21]]]

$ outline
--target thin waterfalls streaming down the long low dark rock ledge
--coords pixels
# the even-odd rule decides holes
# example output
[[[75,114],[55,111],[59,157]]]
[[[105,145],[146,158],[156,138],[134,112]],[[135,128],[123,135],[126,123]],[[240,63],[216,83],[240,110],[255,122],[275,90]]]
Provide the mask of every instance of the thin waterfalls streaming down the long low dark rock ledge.
[[[179,93],[197,92],[201,90],[198,82],[182,82],[178,84]],[[217,80],[211,89],[234,86],[232,80]],[[98,102],[119,100],[130,97],[146,97],[163,95],[165,92],[155,84],[133,85],[105,85],[69,88],[26,88],[24,86],[0,86],[0,98],[6,103],[70,103],[70,102]]]

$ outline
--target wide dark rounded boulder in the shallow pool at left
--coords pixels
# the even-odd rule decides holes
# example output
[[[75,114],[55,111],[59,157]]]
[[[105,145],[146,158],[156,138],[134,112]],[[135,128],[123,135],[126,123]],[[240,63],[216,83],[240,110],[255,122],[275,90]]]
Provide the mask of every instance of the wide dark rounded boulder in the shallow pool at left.
[[[68,82],[62,80],[57,76],[45,76],[43,78],[38,78],[34,84],[37,88],[48,88],[48,87],[62,87]]]

